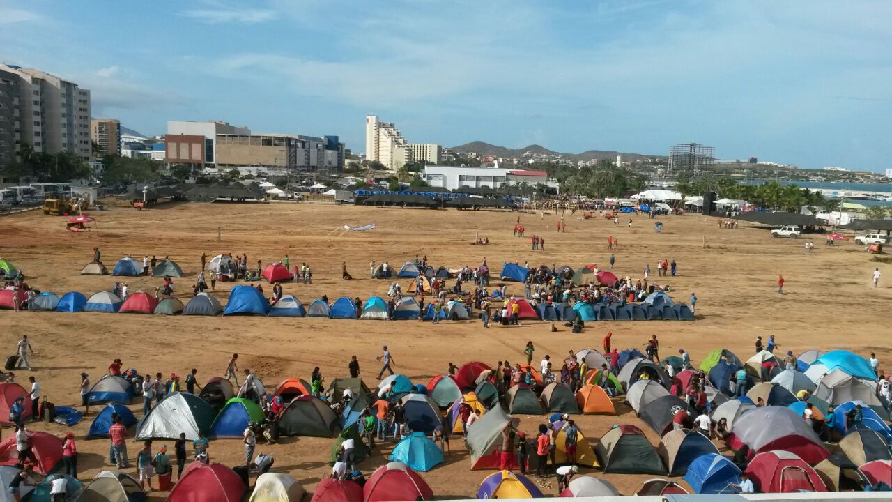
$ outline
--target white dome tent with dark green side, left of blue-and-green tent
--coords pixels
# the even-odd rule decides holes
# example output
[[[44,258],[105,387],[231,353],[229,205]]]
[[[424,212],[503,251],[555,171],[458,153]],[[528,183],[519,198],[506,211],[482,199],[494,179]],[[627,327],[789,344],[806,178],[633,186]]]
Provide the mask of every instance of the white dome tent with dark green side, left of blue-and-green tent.
[[[136,440],[186,439],[194,441],[211,429],[216,412],[204,399],[178,392],[161,399],[136,426]],[[185,476],[185,474],[184,474]]]

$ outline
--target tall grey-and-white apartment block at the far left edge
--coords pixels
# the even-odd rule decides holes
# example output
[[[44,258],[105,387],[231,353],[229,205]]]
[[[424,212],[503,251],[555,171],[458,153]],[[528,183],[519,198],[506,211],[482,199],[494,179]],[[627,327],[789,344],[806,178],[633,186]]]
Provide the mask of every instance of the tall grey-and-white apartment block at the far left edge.
[[[5,64],[0,81],[0,163],[17,156],[22,144],[36,153],[69,152],[89,160],[90,91],[45,71]],[[3,117],[12,118],[12,152]]]

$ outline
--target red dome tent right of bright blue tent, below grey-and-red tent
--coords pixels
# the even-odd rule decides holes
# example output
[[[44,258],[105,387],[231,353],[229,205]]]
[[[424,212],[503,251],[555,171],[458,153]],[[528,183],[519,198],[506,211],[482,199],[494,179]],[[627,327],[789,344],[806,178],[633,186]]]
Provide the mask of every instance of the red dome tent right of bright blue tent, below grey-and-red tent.
[[[747,465],[747,476],[763,493],[794,493],[799,489],[827,491],[827,486],[805,460],[789,451],[767,451]]]

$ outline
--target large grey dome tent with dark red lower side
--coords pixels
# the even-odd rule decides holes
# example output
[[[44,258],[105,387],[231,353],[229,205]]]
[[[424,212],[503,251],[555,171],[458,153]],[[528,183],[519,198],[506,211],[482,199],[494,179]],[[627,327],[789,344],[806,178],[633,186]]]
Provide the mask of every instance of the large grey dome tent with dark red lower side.
[[[771,427],[765,426],[768,423]],[[786,406],[764,406],[741,415],[734,423],[734,436],[756,453],[789,451],[810,464],[830,456],[814,430]]]

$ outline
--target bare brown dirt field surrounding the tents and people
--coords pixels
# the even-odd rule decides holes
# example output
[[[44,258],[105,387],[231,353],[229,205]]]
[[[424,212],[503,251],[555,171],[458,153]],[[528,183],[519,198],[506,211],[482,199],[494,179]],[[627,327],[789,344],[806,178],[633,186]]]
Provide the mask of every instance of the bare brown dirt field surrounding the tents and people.
[[[532,251],[528,238],[514,238],[512,227],[521,217],[526,235],[539,234],[546,240],[545,251]],[[222,376],[227,357],[238,352],[242,368],[251,368],[268,386],[287,377],[309,380],[313,366],[320,366],[326,381],[347,375],[351,355],[359,356],[362,376],[370,387],[376,386],[380,367],[375,356],[382,344],[391,347],[394,369],[413,382],[426,384],[434,375],[445,372],[447,364],[479,360],[494,364],[521,361],[527,340],[533,340],[534,360],[550,354],[563,358],[570,349],[600,349],[607,330],[612,330],[613,345],[621,350],[642,346],[651,334],[661,341],[662,356],[677,356],[679,347],[690,352],[692,361],[714,348],[728,348],[743,359],[753,353],[757,335],[763,339],[774,334],[782,350],[799,354],[809,349],[846,348],[863,356],[877,353],[881,365],[892,363],[888,339],[888,309],[892,299],[892,267],[871,262],[871,255],[851,241],[838,247],[824,247],[816,236],[813,255],[805,255],[805,238],[772,239],[766,230],[745,228],[718,229],[716,220],[699,215],[664,216],[663,233],[653,230],[654,221],[646,216],[632,216],[615,227],[603,218],[582,221],[566,213],[566,233],[555,230],[558,215],[547,213],[459,212],[422,209],[380,209],[326,204],[271,205],[161,205],[157,209],[136,211],[129,207],[111,207],[95,213],[97,227],[89,235],[72,235],[65,230],[62,217],[30,212],[0,218],[0,257],[21,267],[33,287],[62,294],[69,290],[87,296],[111,289],[116,279],[129,282],[131,291],[152,292],[161,280],[153,278],[114,278],[80,276],[80,268],[91,261],[93,247],[100,247],[103,262],[111,270],[124,255],[142,258],[169,255],[180,264],[187,277],[176,280],[177,296],[191,297],[191,285],[200,268],[200,255],[231,252],[246,253],[249,264],[261,259],[264,264],[290,255],[293,264],[306,262],[313,270],[313,283],[285,284],[285,294],[294,294],[304,305],[323,294],[330,301],[336,297],[365,298],[384,296],[390,281],[368,279],[368,263],[389,262],[395,268],[427,255],[434,267],[458,268],[480,264],[485,256],[491,269],[498,271],[503,259],[529,261],[530,265],[597,263],[607,268],[610,252],[607,237],[619,240],[614,251],[618,276],[640,277],[650,264],[657,283],[671,284],[676,301],[687,303],[690,293],[698,297],[695,322],[591,322],[581,335],[558,326],[549,332],[545,322],[523,322],[516,327],[483,330],[476,322],[364,322],[327,319],[292,319],[259,317],[168,317],[127,314],[13,313],[0,311],[0,347],[12,354],[21,334],[29,334],[37,354],[32,364],[36,372],[17,372],[16,380],[27,386],[29,374],[37,376],[43,394],[56,405],[79,404],[78,373],[88,372],[95,381],[115,357],[126,367],[143,372],[178,372],[185,375],[198,368],[198,380]],[[343,225],[376,223],[376,230],[345,232]],[[221,240],[218,241],[218,228]],[[471,246],[475,235],[488,237],[491,245]],[[706,247],[704,247],[704,238]],[[657,259],[675,260],[678,275],[656,279]],[[354,280],[341,279],[341,263],[346,262]],[[880,266],[880,288],[871,287],[871,273]],[[786,294],[776,293],[777,275],[787,280]],[[404,282],[403,290],[409,285]],[[237,283],[218,282],[216,294],[221,301]],[[270,290],[267,285],[266,293]],[[509,283],[509,293],[521,293],[516,283]],[[141,405],[134,405],[139,410]],[[583,434],[594,444],[614,423],[633,423],[648,433],[656,446],[659,438],[632,410],[617,403],[619,416],[579,416]],[[137,413],[137,416],[140,414]],[[78,435],[78,461],[82,479],[90,479],[99,470],[109,468],[103,454],[107,440],[86,440],[89,416],[73,428]],[[521,417],[521,428],[533,433],[545,417]],[[62,435],[58,424],[35,423],[31,430]],[[4,430],[4,437],[11,434]],[[168,441],[156,441],[155,450]],[[258,446],[258,452],[276,457],[274,471],[292,473],[312,491],[319,479],[326,477],[331,439],[285,438],[272,447]],[[453,440],[455,450],[447,464],[423,476],[438,498],[473,498],[479,482],[491,472],[469,471],[470,461],[460,440]],[[371,473],[384,464],[392,444],[377,448],[373,456],[359,464]],[[136,444],[129,446],[131,459]],[[172,452],[172,444],[169,445]],[[191,451],[191,448],[190,448]],[[244,448],[236,439],[211,443],[211,459],[229,465],[240,463]],[[112,466],[113,467],[113,466]],[[133,468],[135,472],[136,469]],[[582,469],[583,473],[588,470]],[[600,474],[598,474],[600,475]],[[607,475],[624,494],[630,494],[646,475]],[[553,481],[553,486],[556,483]],[[550,490],[551,493],[554,489]],[[155,492],[161,499],[165,493]]]

